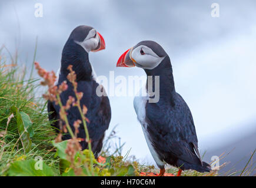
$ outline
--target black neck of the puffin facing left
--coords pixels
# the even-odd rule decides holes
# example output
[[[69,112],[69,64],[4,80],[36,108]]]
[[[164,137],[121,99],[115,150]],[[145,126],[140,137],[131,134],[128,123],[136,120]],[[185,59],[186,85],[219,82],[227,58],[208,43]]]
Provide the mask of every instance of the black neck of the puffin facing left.
[[[165,58],[156,68],[152,70],[145,69],[145,72],[147,73],[147,76],[152,76],[153,91],[155,90],[154,76],[159,76],[159,100],[167,100],[173,103],[175,87],[169,56],[165,56]]]

